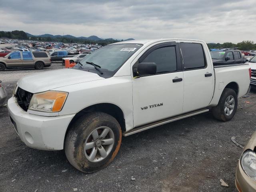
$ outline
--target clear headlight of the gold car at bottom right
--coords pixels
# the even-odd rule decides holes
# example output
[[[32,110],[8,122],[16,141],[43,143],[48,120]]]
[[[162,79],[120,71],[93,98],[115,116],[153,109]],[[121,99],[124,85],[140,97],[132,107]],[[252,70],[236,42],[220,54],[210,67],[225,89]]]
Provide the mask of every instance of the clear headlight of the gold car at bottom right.
[[[241,166],[244,172],[256,181],[256,153],[254,151],[246,150],[242,154]]]

